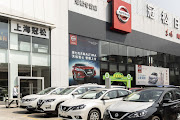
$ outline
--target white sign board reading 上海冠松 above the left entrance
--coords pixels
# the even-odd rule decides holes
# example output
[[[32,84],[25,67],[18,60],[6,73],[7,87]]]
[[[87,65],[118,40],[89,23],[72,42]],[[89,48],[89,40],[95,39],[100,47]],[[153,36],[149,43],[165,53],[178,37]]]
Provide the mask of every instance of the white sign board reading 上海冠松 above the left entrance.
[[[11,32],[49,39],[49,28],[11,21]]]

